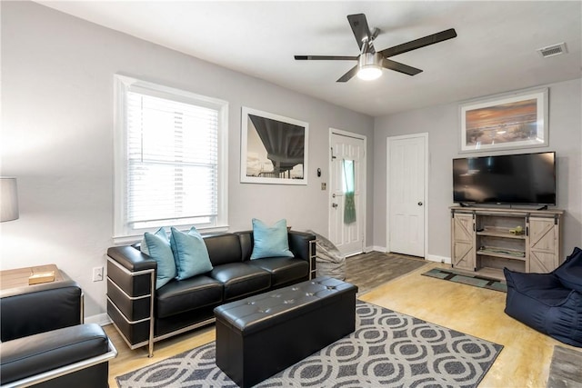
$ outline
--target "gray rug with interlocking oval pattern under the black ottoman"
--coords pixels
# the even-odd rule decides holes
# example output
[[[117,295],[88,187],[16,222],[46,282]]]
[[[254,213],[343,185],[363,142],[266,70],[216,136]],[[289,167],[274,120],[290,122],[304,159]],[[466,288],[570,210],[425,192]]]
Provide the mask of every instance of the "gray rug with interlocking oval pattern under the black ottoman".
[[[477,387],[502,345],[357,301],[356,332],[257,387]],[[236,387],[215,343],[116,377],[120,387]]]

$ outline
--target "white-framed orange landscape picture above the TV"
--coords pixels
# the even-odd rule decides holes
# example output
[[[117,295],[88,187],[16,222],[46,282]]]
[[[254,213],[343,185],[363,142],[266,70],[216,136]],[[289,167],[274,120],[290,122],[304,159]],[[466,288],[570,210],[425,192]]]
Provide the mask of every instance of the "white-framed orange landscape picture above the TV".
[[[461,153],[548,145],[547,88],[461,104]]]

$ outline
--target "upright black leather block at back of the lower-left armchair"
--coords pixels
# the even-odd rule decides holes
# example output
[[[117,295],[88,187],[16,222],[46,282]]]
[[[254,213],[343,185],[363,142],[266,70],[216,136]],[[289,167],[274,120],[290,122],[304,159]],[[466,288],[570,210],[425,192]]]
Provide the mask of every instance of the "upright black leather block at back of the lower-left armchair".
[[[82,323],[83,292],[72,280],[17,287],[0,298],[2,342]]]

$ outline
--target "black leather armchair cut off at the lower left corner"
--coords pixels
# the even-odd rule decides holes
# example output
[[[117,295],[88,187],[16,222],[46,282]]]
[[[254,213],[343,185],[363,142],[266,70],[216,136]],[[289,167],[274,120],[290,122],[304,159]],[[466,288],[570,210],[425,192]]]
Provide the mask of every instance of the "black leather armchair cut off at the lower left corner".
[[[83,293],[70,279],[4,290],[0,385],[107,386],[117,354],[103,329],[83,323]]]

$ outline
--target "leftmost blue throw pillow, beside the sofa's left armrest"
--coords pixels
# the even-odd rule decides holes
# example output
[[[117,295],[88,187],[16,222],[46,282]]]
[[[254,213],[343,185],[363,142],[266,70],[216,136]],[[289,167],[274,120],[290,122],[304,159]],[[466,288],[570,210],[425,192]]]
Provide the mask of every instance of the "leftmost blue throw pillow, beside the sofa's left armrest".
[[[155,234],[146,232],[140,249],[157,262],[156,290],[176,277],[174,254],[164,228],[159,228]]]

